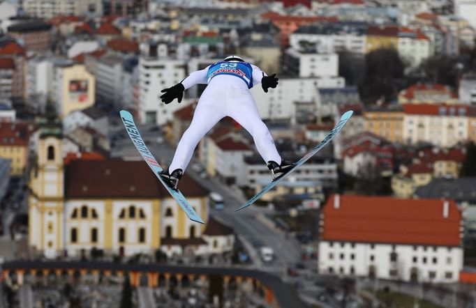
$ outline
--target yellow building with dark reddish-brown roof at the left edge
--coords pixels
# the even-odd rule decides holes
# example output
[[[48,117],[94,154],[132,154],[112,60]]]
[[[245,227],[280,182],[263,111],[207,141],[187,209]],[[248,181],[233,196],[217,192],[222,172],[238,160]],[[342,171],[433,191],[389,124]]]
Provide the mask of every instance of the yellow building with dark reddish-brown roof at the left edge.
[[[10,160],[10,176],[23,174],[28,163],[29,136],[34,125],[0,123],[0,157]]]

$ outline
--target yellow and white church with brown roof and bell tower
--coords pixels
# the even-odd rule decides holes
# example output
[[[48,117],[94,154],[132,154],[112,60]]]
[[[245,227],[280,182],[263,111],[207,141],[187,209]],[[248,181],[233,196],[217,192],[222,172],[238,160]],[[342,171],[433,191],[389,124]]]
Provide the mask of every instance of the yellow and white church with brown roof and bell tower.
[[[106,254],[169,256],[230,251],[233,240],[188,219],[142,161],[73,160],[61,157],[61,129],[40,131],[38,164],[29,183],[29,245],[49,258],[78,256],[92,248]],[[184,176],[191,206],[209,217],[208,191]]]

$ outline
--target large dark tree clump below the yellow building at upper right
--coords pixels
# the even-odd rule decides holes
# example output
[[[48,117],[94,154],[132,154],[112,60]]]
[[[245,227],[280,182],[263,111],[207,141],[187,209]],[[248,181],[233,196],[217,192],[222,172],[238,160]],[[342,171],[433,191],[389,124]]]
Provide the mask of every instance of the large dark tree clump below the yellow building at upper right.
[[[364,82],[359,86],[362,100],[391,102],[399,91],[405,66],[399,53],[392,48],[376,49],[365,56]]]

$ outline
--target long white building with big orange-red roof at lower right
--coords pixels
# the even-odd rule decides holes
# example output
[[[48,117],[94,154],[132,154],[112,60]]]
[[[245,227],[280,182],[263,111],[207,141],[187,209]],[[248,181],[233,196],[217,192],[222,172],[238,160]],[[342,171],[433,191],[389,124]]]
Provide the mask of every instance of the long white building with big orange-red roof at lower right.
[[[341,196],[320,215],[322,274],[458,282],[462,218],[454,201]]]

